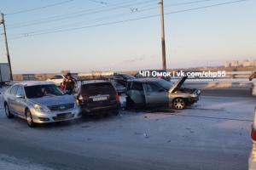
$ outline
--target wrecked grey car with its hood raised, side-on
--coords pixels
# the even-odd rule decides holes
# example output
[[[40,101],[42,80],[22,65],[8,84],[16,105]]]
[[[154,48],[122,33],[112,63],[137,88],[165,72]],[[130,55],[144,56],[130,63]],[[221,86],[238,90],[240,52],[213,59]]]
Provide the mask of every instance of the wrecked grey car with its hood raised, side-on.
[[[187,77],[180,78],[175,84],[158,78],[137,78],[128,82],[126,87],[126,106],[128,108],[146,108],[172,106],[177,110],[196,103],[200,90],[183,88]]]

